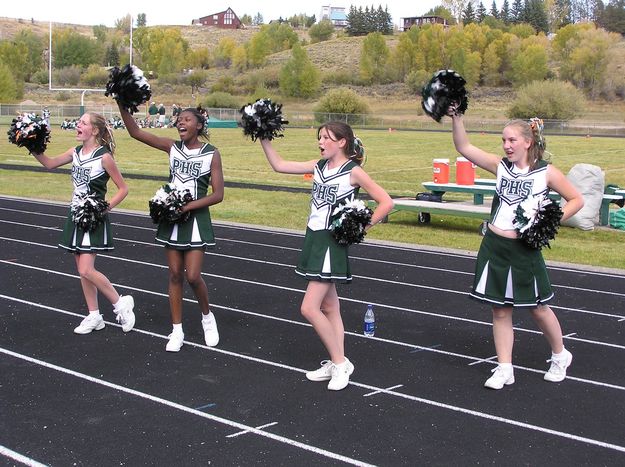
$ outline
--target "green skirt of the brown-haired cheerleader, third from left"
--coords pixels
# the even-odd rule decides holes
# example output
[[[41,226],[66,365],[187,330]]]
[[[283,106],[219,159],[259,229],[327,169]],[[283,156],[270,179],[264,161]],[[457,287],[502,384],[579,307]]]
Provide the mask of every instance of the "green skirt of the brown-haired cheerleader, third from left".
[[[347,249],[334,240],[329,230],[306,228],[295,272],[311,281],[351,282]]]

